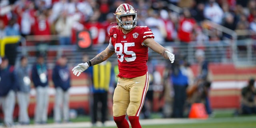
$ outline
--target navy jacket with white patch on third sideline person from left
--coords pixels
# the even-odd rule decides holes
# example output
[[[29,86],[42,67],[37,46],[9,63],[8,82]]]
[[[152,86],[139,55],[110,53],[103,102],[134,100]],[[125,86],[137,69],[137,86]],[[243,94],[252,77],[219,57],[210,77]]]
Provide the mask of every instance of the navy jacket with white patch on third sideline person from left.
[[[48,86],[48,72],[45,64],[34,64],[31,75],[35,87]]]

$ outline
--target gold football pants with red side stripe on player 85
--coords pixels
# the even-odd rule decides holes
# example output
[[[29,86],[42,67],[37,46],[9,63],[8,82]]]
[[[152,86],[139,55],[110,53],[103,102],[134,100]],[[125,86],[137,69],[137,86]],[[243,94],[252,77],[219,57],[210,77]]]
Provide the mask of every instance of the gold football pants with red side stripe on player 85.
[[[146,92],[148,91],[148,72],[136,78],[118,78],[113,96],[113,115],[139,116]]]

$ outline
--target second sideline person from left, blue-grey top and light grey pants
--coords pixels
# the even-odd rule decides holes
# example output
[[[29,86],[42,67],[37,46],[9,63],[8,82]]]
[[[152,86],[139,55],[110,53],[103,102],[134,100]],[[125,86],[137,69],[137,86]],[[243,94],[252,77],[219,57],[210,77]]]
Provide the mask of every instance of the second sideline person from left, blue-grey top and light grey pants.
[[[22,56],[20,65],[16,68],[18,80],[18,104],[19,104],[19,123],[30,124],[28,116],[28,105],[30,103],[30,77],[28,69],[28,58]]]

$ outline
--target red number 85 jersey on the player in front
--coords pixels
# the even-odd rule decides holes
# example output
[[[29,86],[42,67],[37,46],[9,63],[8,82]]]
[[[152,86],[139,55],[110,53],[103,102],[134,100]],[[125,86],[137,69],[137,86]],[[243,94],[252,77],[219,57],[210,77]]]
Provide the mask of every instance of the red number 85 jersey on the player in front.
[[[128,34],[124,34],[118,26],[109,31],[110,48],[118,57],[119,77],[134,78],[143,76],[148,71],[148,47],[143,44],[154,34],[147,26],[136,26]]]

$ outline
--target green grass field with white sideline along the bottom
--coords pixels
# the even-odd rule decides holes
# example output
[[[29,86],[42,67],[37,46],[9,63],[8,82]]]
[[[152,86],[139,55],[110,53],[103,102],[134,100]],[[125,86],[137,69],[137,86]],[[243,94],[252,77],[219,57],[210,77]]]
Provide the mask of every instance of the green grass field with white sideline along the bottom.
[[[140,119],[142,128],[256,128],[256,115],[234,116],[234,110],[214,110],[214,116],[208,119],[189,118],[161,118],[160,113],[152,113],[151,119]],[[116,128],[113,120],[106,122],[104,128]],[[0,125],[0,128],[1,125]],[[17,128],[92,128],[90,116],[78,116],[71,119],[68,124],[54,124],[52,117],[48,118],[47,125],[35,126],[33,119],[29,126],[17,126]],[[103,127],[93,127],[103,128]],[[131,127],[130,127],[131,128]]]

